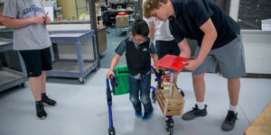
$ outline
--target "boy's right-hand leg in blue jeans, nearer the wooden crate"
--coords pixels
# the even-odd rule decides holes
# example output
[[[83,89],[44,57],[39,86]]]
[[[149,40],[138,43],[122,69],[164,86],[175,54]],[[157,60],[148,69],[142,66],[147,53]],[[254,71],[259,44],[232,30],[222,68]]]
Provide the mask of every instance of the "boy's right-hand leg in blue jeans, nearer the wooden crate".
[[[139,83],[140,88],[140,99],[144,106],[144,116],[143,120],[148,120],[152,116],[152,112],[154,111],[151,97],[150,97],[150,87],[151,87],[151,74],[144,76]]]

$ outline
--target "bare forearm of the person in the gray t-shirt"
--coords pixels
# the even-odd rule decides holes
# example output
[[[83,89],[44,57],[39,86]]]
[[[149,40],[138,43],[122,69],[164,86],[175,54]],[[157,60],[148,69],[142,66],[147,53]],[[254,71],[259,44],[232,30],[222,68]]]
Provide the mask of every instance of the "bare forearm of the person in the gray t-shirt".
[[[33,23],[44,23],[46,21],[45,16],[36,16],[33,18],[14,19],[11,17],[4,17],[4,24],[6,28],[18,29],[28,26]]]

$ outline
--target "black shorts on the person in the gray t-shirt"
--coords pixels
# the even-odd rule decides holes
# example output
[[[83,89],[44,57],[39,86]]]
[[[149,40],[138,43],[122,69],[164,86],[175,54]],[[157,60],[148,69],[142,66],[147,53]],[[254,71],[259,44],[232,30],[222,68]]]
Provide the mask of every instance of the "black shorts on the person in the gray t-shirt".
[[[51,70],[51,51],[46,49],[20,50],[27,76],[41,76],[42,70]]]

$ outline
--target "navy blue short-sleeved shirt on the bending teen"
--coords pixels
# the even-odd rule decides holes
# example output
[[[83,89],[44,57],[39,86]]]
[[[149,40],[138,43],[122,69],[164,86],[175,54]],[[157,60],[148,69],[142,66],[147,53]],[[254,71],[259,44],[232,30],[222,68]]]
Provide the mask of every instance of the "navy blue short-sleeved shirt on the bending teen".
[[[176,18],[170,17],[170,30],[177,42],[184,38],[201,41],[204,32],[200,27],[211,19],[218,37],[211,49],[220,48],[240,34],[240,28],[218,4],[212,0],[172,0]]]

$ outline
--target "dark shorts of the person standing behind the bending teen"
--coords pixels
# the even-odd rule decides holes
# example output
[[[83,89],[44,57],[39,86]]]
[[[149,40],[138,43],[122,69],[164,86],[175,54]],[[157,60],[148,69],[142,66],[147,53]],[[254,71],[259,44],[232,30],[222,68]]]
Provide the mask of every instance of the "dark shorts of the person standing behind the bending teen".
[[[180,49],[175,40],[156,40],[155,45],[159,59],[163,58],[166,54],[180,55]]]

